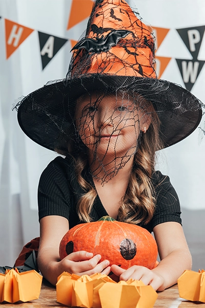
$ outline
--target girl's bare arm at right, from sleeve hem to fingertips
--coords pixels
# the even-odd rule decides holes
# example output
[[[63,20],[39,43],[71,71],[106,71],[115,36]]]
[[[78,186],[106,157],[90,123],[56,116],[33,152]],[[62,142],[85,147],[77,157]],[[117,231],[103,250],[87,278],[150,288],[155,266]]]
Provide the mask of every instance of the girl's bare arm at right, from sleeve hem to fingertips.
[[[112,265],[111,271],[120,280],[142,280],[146,285],[152,285],[154,290],[163,291],[175,284],[185,269],[191,269],[192,257],[179,223],[161,223],[154,227],[153,232],[161,259],[156,268],[150,270],[135,265],[125,270]]]

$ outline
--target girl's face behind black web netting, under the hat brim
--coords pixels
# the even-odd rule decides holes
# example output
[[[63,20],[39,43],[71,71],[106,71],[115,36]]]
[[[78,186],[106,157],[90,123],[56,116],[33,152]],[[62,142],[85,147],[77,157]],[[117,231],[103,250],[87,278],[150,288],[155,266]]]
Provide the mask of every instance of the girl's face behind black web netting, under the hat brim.
[[[128,95],[83,95],[77,101],[76,127],[83,143],[98,157],[130,156],[136,150],[143,113]]]

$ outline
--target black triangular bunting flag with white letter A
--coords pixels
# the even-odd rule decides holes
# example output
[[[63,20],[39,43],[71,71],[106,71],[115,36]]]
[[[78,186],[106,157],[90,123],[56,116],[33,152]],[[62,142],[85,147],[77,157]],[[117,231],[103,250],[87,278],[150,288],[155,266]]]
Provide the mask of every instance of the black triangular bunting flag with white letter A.
[[[53,59],[54,55],[68,41],[66,38],[57,37],[51,34],[38,31],[40,55],[42,57],[42,68]]]

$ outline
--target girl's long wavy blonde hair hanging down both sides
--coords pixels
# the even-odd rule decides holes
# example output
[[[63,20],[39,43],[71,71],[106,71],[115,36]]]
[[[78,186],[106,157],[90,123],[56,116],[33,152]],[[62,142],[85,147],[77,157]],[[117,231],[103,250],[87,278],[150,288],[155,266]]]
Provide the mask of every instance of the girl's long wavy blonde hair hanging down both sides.
[[[142,222],[147,224],[152,219],[155,210],[156,200],[152,175],[155,169],[155,153],[162,148],[162,144],[159,137],[158,115],[151,103],[146,101],[146,104],[149,104],[149,108],[152,109],[152,120],[147,132],[140,133],[140,142],[134,155],[127,191],[118,209],[118,220],[132,224]],[[75,125],[72,130],[76,136]],[[97,191],[83,176],[85,169],[89,167],[86,146],[81,142],[79,135],[77,140],[72,140],[68,144],[68,152],[75,161],[77,181],[85,191],[77,203],[77,213],[81,221],[91,222],[90,213]]]

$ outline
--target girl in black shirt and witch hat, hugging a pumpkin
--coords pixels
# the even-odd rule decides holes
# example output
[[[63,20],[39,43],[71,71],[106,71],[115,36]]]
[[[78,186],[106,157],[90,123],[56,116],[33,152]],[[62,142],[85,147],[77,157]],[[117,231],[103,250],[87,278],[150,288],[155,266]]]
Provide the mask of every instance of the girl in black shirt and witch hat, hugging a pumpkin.
[[[27,136],[65,156],[39,181],[38,267],[52,284],[64,271],[112,271],[163,291],[192,260],[177,194],[169,177],[155,171],[155,152],[198,126],[201,104],[186,89],[156,79],[152,34],[124,0],[97,0],[73,49],[66,79],[29,94],[18,108]],[[86,251],[60,261],[68,229],[105,215],[153,231],[158,266],[110,267]]]

